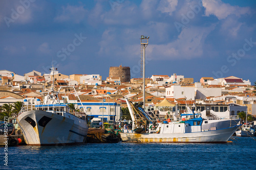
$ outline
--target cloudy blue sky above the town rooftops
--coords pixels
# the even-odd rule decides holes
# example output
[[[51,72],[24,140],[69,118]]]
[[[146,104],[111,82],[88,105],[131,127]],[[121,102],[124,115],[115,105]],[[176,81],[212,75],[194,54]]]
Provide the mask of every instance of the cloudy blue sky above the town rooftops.
[[[100,74],[130,66],[140,77],[236,76],[256,81],[256,1],[0,1],[1,68],[23,75]]]

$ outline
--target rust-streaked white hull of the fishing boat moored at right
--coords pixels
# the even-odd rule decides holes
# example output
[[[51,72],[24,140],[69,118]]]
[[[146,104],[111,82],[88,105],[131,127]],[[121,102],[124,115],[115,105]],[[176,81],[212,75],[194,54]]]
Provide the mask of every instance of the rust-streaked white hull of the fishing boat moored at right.
[[[237,126],[192,133],[121,133],[122,142],[184,142],[184,143],[226,143]]]

